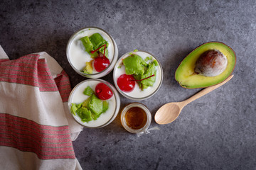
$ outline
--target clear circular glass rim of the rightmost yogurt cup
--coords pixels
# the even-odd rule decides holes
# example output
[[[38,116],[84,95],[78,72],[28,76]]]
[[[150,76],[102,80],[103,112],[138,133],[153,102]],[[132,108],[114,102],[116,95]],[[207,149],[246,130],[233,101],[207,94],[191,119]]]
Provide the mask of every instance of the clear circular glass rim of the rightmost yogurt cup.
[[[132,96],[129,96],[127,94],[125,94],[121,89],[119,89],[119,86],[117,85],[117,81],[114,79],[115,77],[115,74],[116,74],[116,70],[117,70],[117,67],[119,65],[119,62],[122,60],[122,58],[126,55],[129,55],[129,53],[132,53],[134,51],[131,51],[131,52],[127,52],[125,53],[124,55],[122,55],[119,60],[117,60],[117,63],[114,65],[114,71],[113,71],[113,80],[114,80],[114,86],[116,87],[117,91],[119,91],[120,94],[122,94],[122,96],[126,97],[126,98],[129,98],[131,100],[134,100],[134,101],[142,101],[142,100],[145,100],[147,98],[150,98],[151,96],[154,96],[154,94],[156,94],[157,91],[159,91],[160,87],[161,87],[161,84],[163,82],[163,78],[164,78],[164,74],[163,74],[163,68],[161,67],[161,63],[159,62],[159,60],[157,60],[156,57],[154,57],[154,55],[152,55],[150,52],[146,52],[144,50],[137,50],[136,52],[146,52],[147,54],[151,55],[152,57],[154,57],[154,59],[156,60],[156,62],[159,64],[159,68],[160,68],[160,72],[161,72],[161,79],[160,79],[160,83],[159,83],[159,86],[156,88],[156,90],[154,92],[152,92],[151,94],[149,94],[148,96],[145,96],[145,97],[142,97],[142,98],[134,98]],[[117,77],[116,77],[117,78]]]

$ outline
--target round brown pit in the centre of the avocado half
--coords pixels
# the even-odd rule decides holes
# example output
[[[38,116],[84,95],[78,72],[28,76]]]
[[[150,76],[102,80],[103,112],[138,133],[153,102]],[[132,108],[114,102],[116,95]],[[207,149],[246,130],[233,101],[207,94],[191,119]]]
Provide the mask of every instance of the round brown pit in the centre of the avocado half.
[[[196,61],[195,72],[205,77],[215,77],[223,73],[228,65],[228,59],[219,50],[208,50]]]

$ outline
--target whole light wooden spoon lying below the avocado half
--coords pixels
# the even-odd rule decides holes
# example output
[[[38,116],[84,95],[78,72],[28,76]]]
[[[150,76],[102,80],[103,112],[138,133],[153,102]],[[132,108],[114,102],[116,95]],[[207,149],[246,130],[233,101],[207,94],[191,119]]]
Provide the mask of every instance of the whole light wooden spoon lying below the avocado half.
[[[156,111],[156,115],[154,117],[156,123],[164,125],[173,122],[174,120],[176,120],[176,118],[178,118],[178,115],[181,113],[181,110],[184,106],[186,106],[188,103],[191,103],[191,101],[195,101],[197,98],[200,98],[201,96],[208,94],[210,91],[213,91],[214,89],[217,89],[218,87],[222,86],[226,82],[230,81],[232,77],[233,75],[228,77],[228,79],[225,79],[225,81],[223,81],[220,84],[210,86],[206,89],[199,91],[191,98],[186,99],[186,101],[166,103],[164,106],[161,106],[161,108],[159,108],[159,110]]]

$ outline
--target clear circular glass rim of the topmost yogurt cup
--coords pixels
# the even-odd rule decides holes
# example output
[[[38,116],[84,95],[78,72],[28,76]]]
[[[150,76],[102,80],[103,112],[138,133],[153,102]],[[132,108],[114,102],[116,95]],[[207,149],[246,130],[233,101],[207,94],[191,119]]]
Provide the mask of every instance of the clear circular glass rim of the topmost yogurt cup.
[[[106,69],[104,69],[102,72],[97,72],[97,73],[92,73],[92,74],[86,74],[84,72],[81,72],[80,70],[78,70],[77,68],[75,68],[73,66],[73,64],[71,63],[70,61],[70,55],[69,55],[69,49],[70,49],[70,45],[71,43],[73,42],[74,38],[76,35],[78,35],[80,32],[82,32],[82,30],[85,30],[85,29],[90,29],[90,28],[95,28],[95,29],[98,29],[98,30],[102,30],[104,33],[107,34],[107,36],[110,38],[110,40],[112,41],[112,44],[113,44],[113,49],[114,49],[114,53],[113,53],[113,59],[111,60],[110,64],[107,66]],[[78,74],[80,74],[81,76],[84,76],[84,77],[97,77],[97,78],[100,78],[100,77],[104,77],[105,75],[101,75],[101,74],[104,74],[106,71],[107,72],[111,72],[112,69],[114,69],[114,67],[112,69],[110,69],[110,67],[113,65],[114,63],[114,55],[116,53],[116,47],[114,45],[114,39],[112,38],[112,36],[107,33],[106,30],[102,29],[102,28],[99,28],[99,27],[95,27],[95,26],[87,26],[87,27],[84,27],[84,28],[80,28],[80,30],[77,30],[75,31],[75,33],[73,33],[73,35],[70,36],[69,40],[68,40],[68,44],[67,44],[67,47],[66,47],[66,56],[68,58],[68,62],[70,63],[71,67],[75,70],[75,72],[77,72]],[[110,70],[108,70],[110,69]]]

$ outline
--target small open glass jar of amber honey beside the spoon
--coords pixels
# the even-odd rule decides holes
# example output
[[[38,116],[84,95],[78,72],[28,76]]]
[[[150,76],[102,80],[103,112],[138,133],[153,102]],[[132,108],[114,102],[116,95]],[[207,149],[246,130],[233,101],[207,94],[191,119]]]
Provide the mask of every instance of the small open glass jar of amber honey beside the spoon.
[[[129,117],[127,118],[127,114],[129,114],[129,111],[131,111],[131,109],[138,109],[138,108],[142,109],[144,111],[144,113],[139,113],[140,115],[138,115],[138,112],[137,112],[137,113],[135,113],[135,115],[132,115],[132,116],[135,116],[133,118],[136,119],[136,121],[137,121],[137,126],[136,126],[135,125],[136,123],[130,123],[130,121],[132,121],[132,120],[127,120],[127,119],[129,119]],[[145,115],[141,115],[141,114],[145,114]],[[146,118],[145,123],[140,127],[140,125],[139,125],[140,123],[138,124],[138,119],[142,119],[142,117],[144,117],[144,116]],[[143,123],[143,122],[144,121],[142,120],[141,123]],[[126,129],[128,132],[137,133],[137,134],[148,133],[147,129],[149,128],[149,125],[151,123],[151,113],[150,113],[149,109],[146,108],[146,106],[144,106],[144,104],[142,104],[142,103],[129,103],[122,110],[121,123],[122,123],[122,126],[124,127],[124,129]],[[134,124],[135,126],[131,125],[131,124]],[[134,128],[134,127],[136,127],[136,128]]]

